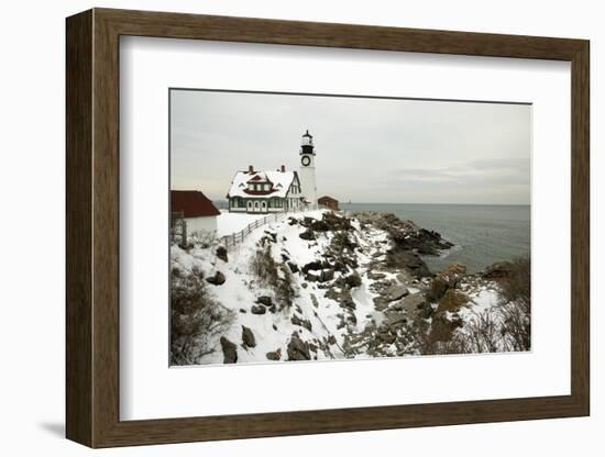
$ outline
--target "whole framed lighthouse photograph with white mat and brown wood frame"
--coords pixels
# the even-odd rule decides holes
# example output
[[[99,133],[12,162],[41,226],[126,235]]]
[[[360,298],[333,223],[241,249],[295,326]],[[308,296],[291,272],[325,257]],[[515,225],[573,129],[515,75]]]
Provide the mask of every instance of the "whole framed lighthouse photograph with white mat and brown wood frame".
[[[68,18],[67,437],[588,415],[588,54]]]

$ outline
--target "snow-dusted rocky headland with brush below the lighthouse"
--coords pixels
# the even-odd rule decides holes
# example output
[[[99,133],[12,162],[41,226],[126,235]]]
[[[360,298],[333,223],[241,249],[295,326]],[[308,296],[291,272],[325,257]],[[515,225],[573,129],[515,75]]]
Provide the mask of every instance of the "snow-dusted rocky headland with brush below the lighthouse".
[[[172,268],[178,271],[173,321],[201,315],[198,328],[206,328],[196,333],[187,326],[188,334],[174,338],[173,361],[527,350],[529,267],[509,261],[469,274],[452,264],[430,271],[422,257],[452,246],[438,232],[393,213],[327,210],[266,224],[229,253],[218,241],[187,249],[173,245]],[[219,278],[212,276],[218,261]],[[188,278],[194,269],[220,280]],[[224,285],[213,287],[219,282]],[[180,299],[185,305],[175,302]],[[517,327],[508,328],[510,322]]]

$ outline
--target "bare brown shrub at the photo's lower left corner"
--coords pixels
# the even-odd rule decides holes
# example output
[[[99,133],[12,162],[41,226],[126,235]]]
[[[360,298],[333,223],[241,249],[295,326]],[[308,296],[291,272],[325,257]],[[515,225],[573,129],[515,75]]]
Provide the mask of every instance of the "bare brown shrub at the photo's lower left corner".
[[[170,364],[191,365],[211,354],[212,342],[231,325],[233,314],[212,300],[198,268],[170,271]]]

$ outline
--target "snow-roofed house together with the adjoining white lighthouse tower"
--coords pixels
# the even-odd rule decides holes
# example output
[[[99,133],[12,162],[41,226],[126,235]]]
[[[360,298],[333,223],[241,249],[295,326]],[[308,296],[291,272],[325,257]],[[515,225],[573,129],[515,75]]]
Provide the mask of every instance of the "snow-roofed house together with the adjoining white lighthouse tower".
[[[227,194],[233,213],[278,213],[317,208],[315,151],[307,131],[300,147],[300,171],[255,170],[238,171]]]

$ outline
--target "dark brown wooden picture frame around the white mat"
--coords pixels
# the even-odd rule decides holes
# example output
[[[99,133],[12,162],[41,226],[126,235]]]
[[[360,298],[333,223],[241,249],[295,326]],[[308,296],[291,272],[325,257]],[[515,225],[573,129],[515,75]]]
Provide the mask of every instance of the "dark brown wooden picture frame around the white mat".
[[[371,431],[590,413],[588,42],[94,9],[67,19],[66,435],[91,447]],[[119,38],[271,43],[571,63],[571,394],[120,421]]]

